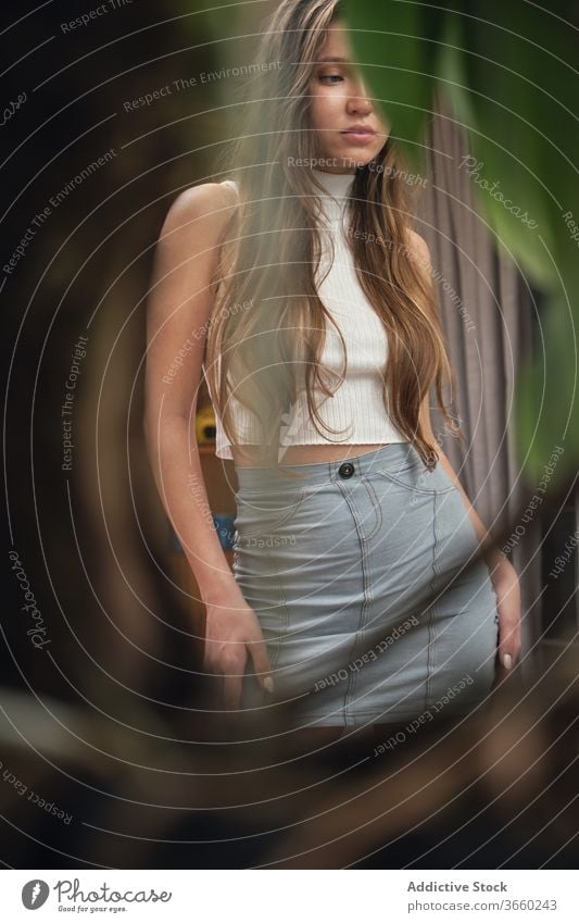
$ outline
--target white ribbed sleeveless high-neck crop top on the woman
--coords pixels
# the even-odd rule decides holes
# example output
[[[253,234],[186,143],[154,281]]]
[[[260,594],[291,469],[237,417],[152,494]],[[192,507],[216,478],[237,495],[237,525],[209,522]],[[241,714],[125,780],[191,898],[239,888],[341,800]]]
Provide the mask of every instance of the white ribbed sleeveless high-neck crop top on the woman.
[[[406,441],[406,437],[392,424],[382,402],[382,371],[388,349],[386,330],[358,283],[353,255],[342,230],[345,200],[353,175],[325,173],[315,169],[312,172],[327,192],[327,196],[322,195],[322,205],[329,228],[326,232],[320,227],[322,258],[316,278],[323,280],[317,285],[317,292],[342,332],[348,367],[342,376],[343,348],[333,325],[327,324],[322,362],[330,370],[331,387],[336,386],[338,378],[341,378],[341,384],[332,397],[322,394],[316,395],[314,399],[319,415],[332,428],[326,435],[326,431],[318,423],[322,433],[317,432],[309,415],[305,389],[301,390],[290,411],[281,417],[279,461],[282,460],[284,450],[288,446],[382,445]],[[237,189],[234,180],[224,182]],[[326,241],[327,233],[332,237],[335,260],[326,275],[331,260],[331,249]],[[230,397],[230,401],[239,442],[260,445],[261,427],[254,414],[236,401],[235,396]],[[214,411],[215,453],[218,458],[231,459],[230,444],[215,404]]]

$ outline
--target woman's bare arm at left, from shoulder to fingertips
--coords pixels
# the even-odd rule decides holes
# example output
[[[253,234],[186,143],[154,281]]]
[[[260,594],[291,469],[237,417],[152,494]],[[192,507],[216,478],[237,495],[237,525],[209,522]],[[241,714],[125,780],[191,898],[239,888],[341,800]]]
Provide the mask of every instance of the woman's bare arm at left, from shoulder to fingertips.
[[[144,435],[156,487],[206,609],[206,669],[239,706],[247,652],[264,688],[270,673],[254,611],[231,573],[213,523],[194,439],[196,395],[214,304],[211,279],[231,190],[207,183],[172,204],[155,249],[147,305]]]

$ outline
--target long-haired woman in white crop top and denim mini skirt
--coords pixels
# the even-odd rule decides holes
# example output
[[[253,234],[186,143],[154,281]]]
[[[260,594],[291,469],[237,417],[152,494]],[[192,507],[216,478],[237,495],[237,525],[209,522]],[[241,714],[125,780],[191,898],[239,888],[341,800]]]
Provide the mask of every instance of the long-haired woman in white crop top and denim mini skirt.
[[[236,179],[168,212],[146,419],[226,708],[291,702],[297,726],[338,731],[466,711],[520,649],[514,569],[490,544],[466,566],[487,533],[431,428],[452,371],[428,247],[340,16],[280,3]],[[234,573],[188,458],[202,374],[239,482]]]

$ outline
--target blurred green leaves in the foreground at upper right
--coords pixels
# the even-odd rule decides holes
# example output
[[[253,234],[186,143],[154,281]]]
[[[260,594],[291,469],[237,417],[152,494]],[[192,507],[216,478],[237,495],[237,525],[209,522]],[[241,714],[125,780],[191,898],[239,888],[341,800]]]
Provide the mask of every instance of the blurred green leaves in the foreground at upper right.
[[[435,87],[450,100],[469,150],[456,164],[481,214],[545,294],[544,348],[521,371],[519,459],[539,476],[554,446],[558,472],[579,457],[579,148],[575,32],[566,7],[470,0],[456,10],[347,0],[356,58],[392,134],[415,163]]]

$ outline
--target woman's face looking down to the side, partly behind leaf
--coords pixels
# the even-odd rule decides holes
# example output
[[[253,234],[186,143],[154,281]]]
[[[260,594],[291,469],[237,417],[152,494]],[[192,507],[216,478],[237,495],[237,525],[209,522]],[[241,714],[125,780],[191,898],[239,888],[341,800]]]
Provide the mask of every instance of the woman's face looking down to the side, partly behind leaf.
[[[340,21],[328,28],[310,82],[310,127],[315,132],[319,159],[316,165],[328,173],[352,173],[369,163],[390,130],[351,63],[345,29]]]

